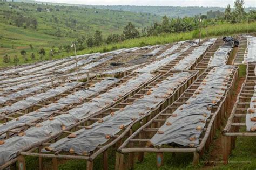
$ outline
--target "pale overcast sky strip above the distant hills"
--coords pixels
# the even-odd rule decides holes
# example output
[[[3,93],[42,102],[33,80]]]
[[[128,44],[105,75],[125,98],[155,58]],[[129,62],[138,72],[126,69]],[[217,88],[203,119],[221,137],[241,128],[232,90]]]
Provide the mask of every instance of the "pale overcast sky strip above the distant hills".
[[[42,0],[41,0],[42,1]],[[150,6],[220,6],[234,5],[234,0],[43,0],[44,2],[86,5],[150,5]],[[256,0],[244,0],[245,6],[256,7]]]

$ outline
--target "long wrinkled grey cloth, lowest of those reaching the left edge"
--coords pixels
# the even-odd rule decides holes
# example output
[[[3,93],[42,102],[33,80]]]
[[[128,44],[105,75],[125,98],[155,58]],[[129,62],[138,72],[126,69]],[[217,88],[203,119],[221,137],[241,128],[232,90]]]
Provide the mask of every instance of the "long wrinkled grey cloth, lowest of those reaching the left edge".
[[[0,145],[0,165],[17,157],[17,152],[21,151],[24,147],[29,147],[37,142],[42,142],[50,139],[49,136],[62,131],[62,127],[68,127],[75,124],[79,119],[90,117],[92,114],[99,112],[110,106],[120,97],[125,96],[134,88],[139,87],[145,82],[150,81],[156,75],[150,73],[139,74],[137,77],[114,87],[111,90],[93,98],[91,102],[79,105],[69,111],[68,114],[58,115],[53,117],[53,120],[46,120],[39,124],[39,126],[31,127],[26,130],[24,136],[14,136],[6,139],[3,145]]]

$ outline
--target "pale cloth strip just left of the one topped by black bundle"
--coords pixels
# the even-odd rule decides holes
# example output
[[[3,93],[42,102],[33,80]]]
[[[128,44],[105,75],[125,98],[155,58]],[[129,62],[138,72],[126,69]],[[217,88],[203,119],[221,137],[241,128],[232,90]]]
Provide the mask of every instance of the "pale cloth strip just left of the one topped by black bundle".
[[[193,51],[185,56],[184,59],[180,60],[172,69],[173,70],[188,70],[202,56],[206,50],[216,41],[216,38],[212,38],[201,46],[193,49]]]

